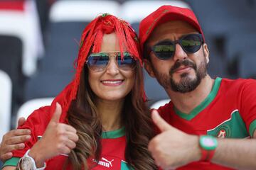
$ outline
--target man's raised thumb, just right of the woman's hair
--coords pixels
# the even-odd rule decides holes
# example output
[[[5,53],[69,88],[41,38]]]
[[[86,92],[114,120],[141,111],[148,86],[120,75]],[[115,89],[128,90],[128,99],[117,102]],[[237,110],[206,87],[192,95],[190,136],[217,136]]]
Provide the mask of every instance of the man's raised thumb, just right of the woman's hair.
[[[161,118],[158,111],[156,111],[155,109],[151,112],[151,117],[154,124],[156,124],[156,126],[159,128],[159,130],[161,130],[161,132],[171,129],[171,125],[166,123],[166,121],[163,118]]]

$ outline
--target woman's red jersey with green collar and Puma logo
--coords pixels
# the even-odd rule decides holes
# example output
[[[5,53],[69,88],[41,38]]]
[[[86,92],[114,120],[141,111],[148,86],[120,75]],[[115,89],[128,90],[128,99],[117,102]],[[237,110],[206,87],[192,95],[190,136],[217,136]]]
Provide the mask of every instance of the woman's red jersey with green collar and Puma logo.
[[[25,143],[25,149],[14,151],[14,157],[7,160],[4,166],[16,166],[18,159],[23,157],[26,151],[30,149],[38,140],[40,140],[40,138],[43,136],[43,132],[46,130],[48,122],[50,121],[50,114],[47,112],[48,110],[48,106],[46,106],[34,111],[34,113],[29,116],[26,124],[23,125],[22,128],[31,129],[31,140]],[[87,159],[87,163],[93,166],[93,170],[132,169],[132,167],[125,162],[125,147],[126,137],[124,128],[109,132],[102,132],[102,154],[100,156],[100,160]],[[64,154],[49,159],[46,162],[46,170],[62,170],[67,159],[68,155]],[[72,169],[71,164],[68,164],[67,169]]]

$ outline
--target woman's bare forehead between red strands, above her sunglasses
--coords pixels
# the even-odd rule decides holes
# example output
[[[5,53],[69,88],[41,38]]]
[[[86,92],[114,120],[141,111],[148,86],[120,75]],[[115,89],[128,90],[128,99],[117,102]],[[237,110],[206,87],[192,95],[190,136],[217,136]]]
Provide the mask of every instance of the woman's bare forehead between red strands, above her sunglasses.
[[[102,37],[101,51],[102,52],[111,52],[119,51],[119,40],[116,33],[105,34]]]

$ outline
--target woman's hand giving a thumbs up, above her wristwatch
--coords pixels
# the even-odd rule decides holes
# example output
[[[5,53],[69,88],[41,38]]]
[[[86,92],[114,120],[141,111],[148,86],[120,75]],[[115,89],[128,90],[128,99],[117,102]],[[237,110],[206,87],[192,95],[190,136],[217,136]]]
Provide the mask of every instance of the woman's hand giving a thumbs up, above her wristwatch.
[[[29,155],[35,159],[37,167],[43,166],[46,159],[59,154],[69,154],[75,148],[75,142],[78,142],[75,128],[59,123],[61,112],[61,106],[57,103],[43,137],[33,145],[29,152]]]

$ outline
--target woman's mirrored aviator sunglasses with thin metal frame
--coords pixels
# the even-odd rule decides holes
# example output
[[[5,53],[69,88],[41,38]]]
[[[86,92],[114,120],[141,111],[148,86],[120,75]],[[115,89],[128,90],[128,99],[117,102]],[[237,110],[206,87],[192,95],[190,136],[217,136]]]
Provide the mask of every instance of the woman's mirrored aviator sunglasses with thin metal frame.
[[[137,66],[137,61],[129,52],[123,52],[123,58],[121,58],[121,52],[91,53],[87,60],[87,66],[95,72],[105,71],[110,63],[110,57],[115,57],[117,67],[124,71],[131,71]]]

